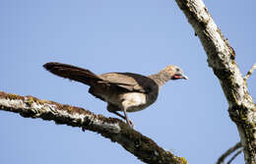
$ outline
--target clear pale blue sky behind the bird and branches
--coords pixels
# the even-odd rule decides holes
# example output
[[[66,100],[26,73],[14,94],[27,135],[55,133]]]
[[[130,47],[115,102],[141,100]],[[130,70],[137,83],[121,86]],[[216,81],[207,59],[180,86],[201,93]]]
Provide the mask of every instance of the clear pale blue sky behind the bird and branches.
[[[256,62],[256,2],[205,3],[244,75]],[[215,163],[239,140],[220,82],[174,0],[2,0],[0,22],[0,90],[115,117],[87,85],[55,77],[41,66],[62,62],[96,74],[151,75],[173,64],[189,81],[167,82],[155,104],[130,113],[135,129],[190,164]],[[248,80],[254,98],[255,74]],[[0,119],[1,163],[142,163],[95,133],[4,111]],[[240,155],[234,163],[242,161]]]

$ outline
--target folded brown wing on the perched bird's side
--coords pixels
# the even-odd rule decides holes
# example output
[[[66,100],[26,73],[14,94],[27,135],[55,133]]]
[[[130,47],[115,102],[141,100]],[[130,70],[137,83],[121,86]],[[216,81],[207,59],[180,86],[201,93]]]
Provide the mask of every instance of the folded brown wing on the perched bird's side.
[[[100,75],[99,78],[108,84],[143,93],[150,92],[157,85],[152,79],[132,73],[107,73]]]

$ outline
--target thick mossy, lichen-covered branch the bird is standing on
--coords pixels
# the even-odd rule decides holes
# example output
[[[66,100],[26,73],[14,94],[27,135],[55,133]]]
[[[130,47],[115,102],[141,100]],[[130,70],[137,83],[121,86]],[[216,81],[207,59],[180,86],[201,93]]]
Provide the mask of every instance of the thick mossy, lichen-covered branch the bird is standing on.
[[[169,151],[163,150],[151,138],[134,131],[124,122],[114,118],[105,118],[82,108],[0,91],[0,110],[19,113],[26,118],[52,120],[56,124],[65,124],[96,132],[102,137],[118,142],[146,163],[187,163],[185,158],[177,157]]]

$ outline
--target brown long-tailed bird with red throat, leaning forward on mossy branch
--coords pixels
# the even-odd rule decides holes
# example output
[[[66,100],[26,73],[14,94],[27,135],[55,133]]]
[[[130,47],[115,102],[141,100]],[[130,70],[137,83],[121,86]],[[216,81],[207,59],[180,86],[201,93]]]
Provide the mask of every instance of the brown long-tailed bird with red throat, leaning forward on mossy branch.
[[[133,123],[126,112],[140,111],[153,104],[165,82],[188,80],[177,66],[167,66],[158,74],[148,77],[133,73],[96,75],[86,69],[53,62],[46,63],[43,67],[59,77],[90,85],[89,92],[107,102],[107,110],[126,120],[130,127],[133,127]],[[124,115],[117,111],[122,111]]]

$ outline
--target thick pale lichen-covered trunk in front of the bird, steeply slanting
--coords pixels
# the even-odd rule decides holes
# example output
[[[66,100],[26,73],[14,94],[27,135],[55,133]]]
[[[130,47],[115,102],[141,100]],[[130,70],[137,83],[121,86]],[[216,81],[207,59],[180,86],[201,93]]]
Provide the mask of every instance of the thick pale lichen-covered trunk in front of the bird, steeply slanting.
[[[208,64],[218,77],[228,102],[228,112],[236,124],[245,163],[256,163],[256,106],[236,65],[235,52],[215,24],[202,0],[176,0],[195,29],[208,56]]]

